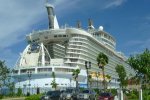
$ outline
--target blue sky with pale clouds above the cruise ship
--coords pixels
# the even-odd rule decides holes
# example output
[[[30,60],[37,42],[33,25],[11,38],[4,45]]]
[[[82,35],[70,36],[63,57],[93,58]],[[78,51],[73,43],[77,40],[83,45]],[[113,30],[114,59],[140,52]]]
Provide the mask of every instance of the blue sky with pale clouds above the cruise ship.
[[[150,49],[150,0],[49,0],[55,6],[60,26],[87,29],[91,18],[95,28],[103,26],[116,38],[117,51],[126,56]],[[0,60],[13,67],[33,30],[48,28],[45,0],[0,1]]]

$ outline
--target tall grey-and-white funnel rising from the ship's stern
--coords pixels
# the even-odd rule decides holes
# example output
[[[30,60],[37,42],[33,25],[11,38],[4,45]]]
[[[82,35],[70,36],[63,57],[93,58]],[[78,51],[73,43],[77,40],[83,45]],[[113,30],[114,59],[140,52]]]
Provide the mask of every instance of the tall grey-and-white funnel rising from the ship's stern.
[[[49,29],[55,29],[55,28],[58,29],[59,25],[54,13],[54,7],[51,4],[46,3],[46,8],[48,13]]]

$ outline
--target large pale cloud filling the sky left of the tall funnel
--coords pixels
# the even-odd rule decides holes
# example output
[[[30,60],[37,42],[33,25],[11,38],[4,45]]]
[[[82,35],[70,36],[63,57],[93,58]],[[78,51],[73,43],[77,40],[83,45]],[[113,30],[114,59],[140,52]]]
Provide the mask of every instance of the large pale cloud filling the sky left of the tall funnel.
[[[23,1],[23,0],[22,0]],[[32,5],[31,5],[31,4]],[[21,40],[33,23],[36,23],[44,12],[41,1],[3,0],[0,1],[0,48],[11,46]],[[34,6],[34,7],[33,7]]]

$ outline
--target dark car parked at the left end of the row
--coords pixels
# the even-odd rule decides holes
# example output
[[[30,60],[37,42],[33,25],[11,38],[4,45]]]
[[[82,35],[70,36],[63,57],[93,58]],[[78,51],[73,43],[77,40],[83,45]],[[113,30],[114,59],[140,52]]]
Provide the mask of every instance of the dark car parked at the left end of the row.
[[[40,99],[41,100],[59,100],[61,95],[61,91],[48,91],[45,95],[43,95]]]

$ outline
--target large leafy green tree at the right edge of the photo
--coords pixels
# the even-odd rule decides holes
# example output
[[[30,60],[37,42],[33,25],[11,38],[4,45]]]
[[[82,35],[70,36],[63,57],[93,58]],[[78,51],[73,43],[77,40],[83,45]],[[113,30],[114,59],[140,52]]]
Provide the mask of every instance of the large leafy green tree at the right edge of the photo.
[[[150,83],[150,50],[145,49],[141,54],[131,55],[128,64],[136,71],[141,83]],[[143,80],[145,79],[145,80]]]

